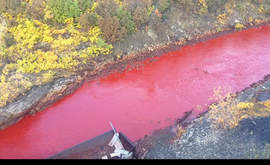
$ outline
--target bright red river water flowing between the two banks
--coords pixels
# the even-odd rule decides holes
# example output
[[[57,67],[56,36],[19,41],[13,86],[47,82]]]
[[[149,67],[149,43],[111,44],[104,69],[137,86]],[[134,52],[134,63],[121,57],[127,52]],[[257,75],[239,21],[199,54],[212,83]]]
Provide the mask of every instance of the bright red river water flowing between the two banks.
[[[0,158],[47,158],[109,131],[109,122],[134,141],[169,125],[167,118],[209,104],[214,86],[240,91],[262,79],[270,73],[269,63],[270,26],[186,46],[143,69],[85,83],[47,110],[0,131]]]

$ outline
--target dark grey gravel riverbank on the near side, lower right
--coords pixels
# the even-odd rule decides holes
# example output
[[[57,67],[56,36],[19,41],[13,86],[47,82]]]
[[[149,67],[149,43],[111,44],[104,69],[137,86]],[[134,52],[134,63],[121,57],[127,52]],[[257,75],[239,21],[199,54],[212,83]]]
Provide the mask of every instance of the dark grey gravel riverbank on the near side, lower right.
[[[256,102],[259,91],[270,91],[270,75],[237,92],[241,102]],[[234,129],[214,129],[209,114],[187,119],[185,133],[176,127],[157,130],[136,144],[137,158],[144,159],[269,159],[270,117],[243,119]]]

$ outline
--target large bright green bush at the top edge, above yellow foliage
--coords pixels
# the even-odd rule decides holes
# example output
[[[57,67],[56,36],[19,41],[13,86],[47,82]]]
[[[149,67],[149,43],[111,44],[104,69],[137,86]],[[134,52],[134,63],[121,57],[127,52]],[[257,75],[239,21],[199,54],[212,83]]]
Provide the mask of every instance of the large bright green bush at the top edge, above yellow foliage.
[[[78,0],[49,0],[55,22],[63,23],[66,18],[78,18],[81,14]]]

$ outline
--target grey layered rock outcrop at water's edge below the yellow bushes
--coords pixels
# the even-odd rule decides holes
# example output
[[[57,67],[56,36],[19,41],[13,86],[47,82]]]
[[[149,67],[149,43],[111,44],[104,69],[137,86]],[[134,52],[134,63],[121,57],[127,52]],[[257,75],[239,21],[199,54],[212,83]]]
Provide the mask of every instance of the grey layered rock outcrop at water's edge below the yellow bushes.
[[[0,109],[0,131],[72,94],[82,86],[82,79],[81,76],[61,78],[44,86],[33,87],[26,95]]]

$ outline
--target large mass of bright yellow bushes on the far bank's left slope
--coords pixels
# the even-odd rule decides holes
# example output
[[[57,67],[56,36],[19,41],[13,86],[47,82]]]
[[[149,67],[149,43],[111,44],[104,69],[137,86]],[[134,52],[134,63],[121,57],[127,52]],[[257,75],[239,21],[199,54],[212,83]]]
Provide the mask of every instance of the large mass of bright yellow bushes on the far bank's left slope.
[[[50,13],[49,11],[49,7],[47,7],[47,13]],[[3,27],[2,29],[5,28],[6,32],[16,41],[16,44],[0,50],[0,67],[3,67],[0,82],[0,107],[23,94],[33,83],[41,85],[51,81],[56,73],[53,70],[74,70],[80,62],[85,64],[97,55],[109,54],[113,48],[101,38],[101,31],[98,27],[93,27],[88,33],[80,32],[80,25],[76,25],[73,18],[66,19],[65,26],[57,29],[35,19],[29,20],[22,13],[17,16],[4,13],[3,16],[4,19],[16,20],[18,24],[9,29],[5,24],[0,26],[0,28]],[[50,18],[49,16],[50,14],[47,18]],[[1,39],[3,39],[2,34],[4,35],[4,33],[0,33]],[[89,47],[75,50],[76,46],[87,41],[91,41]],[[100,43],[100,41],[104,43]],[[49,48],[44,50],[43,47],[49,44]],[[7,64],[5,60],[9,60],[9,63]],[[33,83],[26,78],[28,74],[41,71],[45,71],[45,73],[41,76],[37,74],[36,80],[31,80]],[[16,74],[14,75],[14,73]]]

